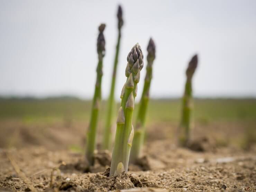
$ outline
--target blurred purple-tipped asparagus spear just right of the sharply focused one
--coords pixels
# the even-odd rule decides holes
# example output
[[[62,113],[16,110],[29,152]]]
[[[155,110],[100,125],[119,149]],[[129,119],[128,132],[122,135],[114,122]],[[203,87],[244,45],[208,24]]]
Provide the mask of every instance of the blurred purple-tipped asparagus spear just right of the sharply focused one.
[[[136,121],[136,130],[134,132],[134,139],[132,141],[130,162],[135,163],[136,159],[139,158],[141,154],[141,149],[143,147],[144,135],[145,135],[145,119],[146,112],[149,100],[149,88],[152,79],[152,65],[155,60],[155,43],[152,38],[150,38],[148,47],[147,47],[148,55],[147,55],[147,72],[144,81],[143,92],[141,95],[140,103],[139,103],[139,111]]]

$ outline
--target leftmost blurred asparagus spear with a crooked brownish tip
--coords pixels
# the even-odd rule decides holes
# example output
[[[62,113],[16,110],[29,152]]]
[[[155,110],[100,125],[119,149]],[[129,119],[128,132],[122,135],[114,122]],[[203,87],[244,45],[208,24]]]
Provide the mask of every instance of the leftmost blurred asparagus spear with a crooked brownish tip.
[[[97,122],[98,122],[98,113],[101,101],[101,77],[102,77],[102,59],[105,55],[105,38],[103,35],[103,31],[106,25],[101,24],[99,26],[99,36],[97,40],[97,52],[98,52],[98,66],[97,66],[97,80],[95,84],[95,91],[94,97],[92,102],[92,111],[91,111],[91,119],[89,125],[89,131],[87,133],[87,140],[86,140],[86,159],[88,160],[89,165],[93,165],[94,158],[93,152],[95,149],[96,143],[96,131],[97,131]]]

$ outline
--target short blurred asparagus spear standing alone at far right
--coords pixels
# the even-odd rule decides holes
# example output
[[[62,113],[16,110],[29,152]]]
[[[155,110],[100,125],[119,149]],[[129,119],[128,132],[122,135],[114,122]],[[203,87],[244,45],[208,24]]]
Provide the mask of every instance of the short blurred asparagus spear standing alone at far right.
[[[192,77],[198,64],[198,57],[194,55],[186,70],[185,92],[182,98],[182,116],[179,130],[179,142],[181,146],[188,145],[191,129],[192,101]]]

